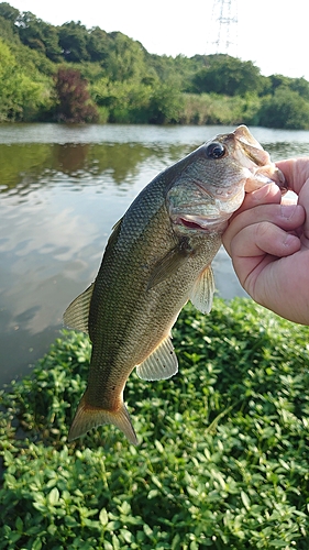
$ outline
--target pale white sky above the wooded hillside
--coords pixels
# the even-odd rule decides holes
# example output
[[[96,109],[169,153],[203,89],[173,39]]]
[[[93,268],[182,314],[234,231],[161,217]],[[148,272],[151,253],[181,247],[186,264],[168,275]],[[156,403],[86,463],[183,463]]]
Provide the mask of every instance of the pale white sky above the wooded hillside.
[[[152,54],[191,57],[220,53],[252,61],[262,75],[282,74],[309,80],[308,0],[8,0],[20,11],[31,11],[54,25],[80,21],[87,29],[120,31]],[[230,12],[228,7],[230,4]],[[223,6],[223,19],[218,23]]]

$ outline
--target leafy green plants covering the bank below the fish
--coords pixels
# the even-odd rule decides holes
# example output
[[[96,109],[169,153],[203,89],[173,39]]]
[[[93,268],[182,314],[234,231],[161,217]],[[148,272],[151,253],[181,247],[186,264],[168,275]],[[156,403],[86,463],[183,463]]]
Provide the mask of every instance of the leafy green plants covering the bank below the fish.
[[[140,439],[67,444],[90,346],[64,332],[1,395],[2,549],[309,548],[308,328],[245,299],[186,307],[179,373],[125,399]]]

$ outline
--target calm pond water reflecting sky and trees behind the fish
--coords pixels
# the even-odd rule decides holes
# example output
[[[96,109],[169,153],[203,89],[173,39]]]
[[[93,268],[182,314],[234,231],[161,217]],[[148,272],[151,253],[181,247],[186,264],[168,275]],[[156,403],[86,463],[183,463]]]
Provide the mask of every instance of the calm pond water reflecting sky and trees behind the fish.
[[[112,226],[162,169],[225,127],[0,125],[0,385],[29,371],[98,272]],[[274,161],[309,155],[309,132],[251,128]],[[218,294],[244,296],[231,262]]]

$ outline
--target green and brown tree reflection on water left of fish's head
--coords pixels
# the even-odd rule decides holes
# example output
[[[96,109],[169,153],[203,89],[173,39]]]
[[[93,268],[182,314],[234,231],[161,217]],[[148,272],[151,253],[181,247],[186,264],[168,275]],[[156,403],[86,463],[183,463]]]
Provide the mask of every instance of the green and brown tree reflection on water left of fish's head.
[[[0,144],[0,193],[24,194],[58,183],[63,175],[76,184],[99,184],[112,179],[117,185],[134,182],[140,165],[162,169],[189,152],[185,145],[151,147],[140,143],[90,144]],[[103,178],[101,177],[103,176]]]

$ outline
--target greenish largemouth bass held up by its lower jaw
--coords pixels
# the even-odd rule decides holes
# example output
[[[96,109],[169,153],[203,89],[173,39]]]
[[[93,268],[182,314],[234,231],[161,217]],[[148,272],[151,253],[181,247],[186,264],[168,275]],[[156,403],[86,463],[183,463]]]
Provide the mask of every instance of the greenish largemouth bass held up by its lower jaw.
[[[89,333],[87,389],[68,440],[113,424],[136,444],[123,389],[136,367],[155,381],[177,373],[170,329],[187,300],[212,305],[211,262],[245,193],[282,173],[246,127],[217,135],[155,177],[114,226],[95,283],[64,314]]]

